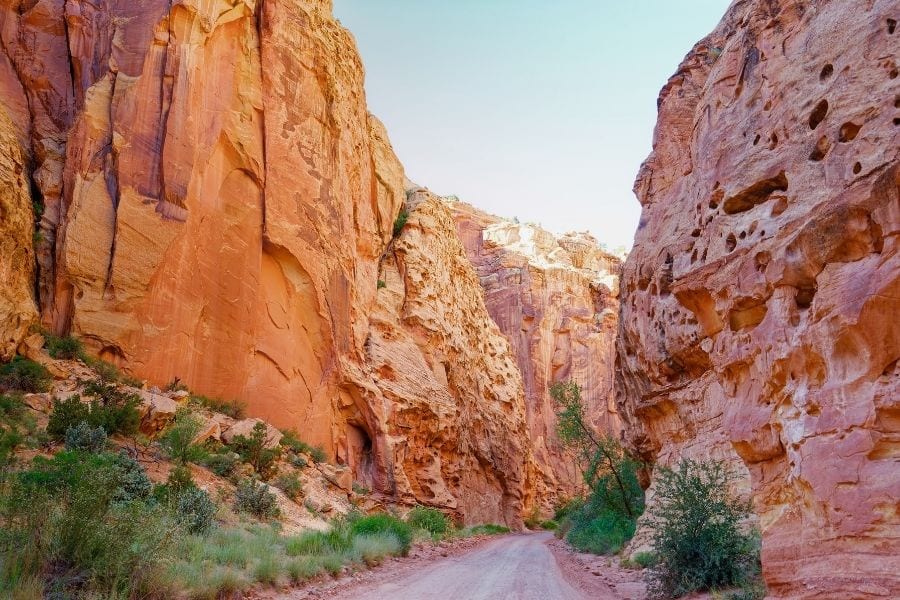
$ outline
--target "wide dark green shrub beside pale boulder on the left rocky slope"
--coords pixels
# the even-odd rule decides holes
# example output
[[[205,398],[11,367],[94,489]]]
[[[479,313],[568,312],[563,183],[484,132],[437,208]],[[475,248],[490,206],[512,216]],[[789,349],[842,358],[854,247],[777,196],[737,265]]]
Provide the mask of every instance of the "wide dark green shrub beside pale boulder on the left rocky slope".
[[[47,433],[53,439],[63,440],[70,427],[82,422],[92,428],[102,427],[107,435],[137,431],[141,417],[137,410],[140,398],[136,394],[119,390],[114,384],[99,379],[85,384],[84,392],[93,396],[88,404],[82,402],[78,394],[53,401],[47,424]]]

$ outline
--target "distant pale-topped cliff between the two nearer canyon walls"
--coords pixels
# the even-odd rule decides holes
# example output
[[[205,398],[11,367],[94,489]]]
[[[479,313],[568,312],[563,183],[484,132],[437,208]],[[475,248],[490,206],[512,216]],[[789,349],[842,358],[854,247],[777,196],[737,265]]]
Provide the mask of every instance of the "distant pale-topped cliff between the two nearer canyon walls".
[[[587,234],[557,237],[469,204],[448,205],[522,373],[539,496],[549,508],[582,491],[578,465],[556,436],[550,386],[577,381],[597,429],[621,431],[613,395],[621,261]]]

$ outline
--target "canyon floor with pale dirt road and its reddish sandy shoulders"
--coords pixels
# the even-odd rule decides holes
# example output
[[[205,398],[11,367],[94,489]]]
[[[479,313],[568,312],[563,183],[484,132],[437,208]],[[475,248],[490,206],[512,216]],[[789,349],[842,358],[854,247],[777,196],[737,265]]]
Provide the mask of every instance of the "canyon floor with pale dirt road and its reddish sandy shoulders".
[[[450,551],[393,559],[272,600],[643,600],[639,571],[573,554],[548,532],[513,534]]]

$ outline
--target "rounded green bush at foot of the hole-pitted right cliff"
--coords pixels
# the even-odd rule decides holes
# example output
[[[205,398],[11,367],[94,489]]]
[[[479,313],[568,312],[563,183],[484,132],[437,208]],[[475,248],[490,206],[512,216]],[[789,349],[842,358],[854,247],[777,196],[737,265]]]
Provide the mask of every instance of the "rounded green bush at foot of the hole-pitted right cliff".
[[[659,559],[649,578],[655,598],[740,586],[759,572],[759,542],[741,523],[750,505],[731,492],[735,475],[721,462],[685,460],[660,467],[647,520]]]

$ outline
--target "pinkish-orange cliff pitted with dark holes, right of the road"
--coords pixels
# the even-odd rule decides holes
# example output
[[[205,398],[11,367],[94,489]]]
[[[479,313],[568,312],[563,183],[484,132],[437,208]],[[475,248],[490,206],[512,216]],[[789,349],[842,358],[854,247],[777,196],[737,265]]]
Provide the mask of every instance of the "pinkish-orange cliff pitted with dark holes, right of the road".
[[[898,19],[734,3],[663,88],[635,184],[629,436],[748,474],[773,597],[900,596]]]

